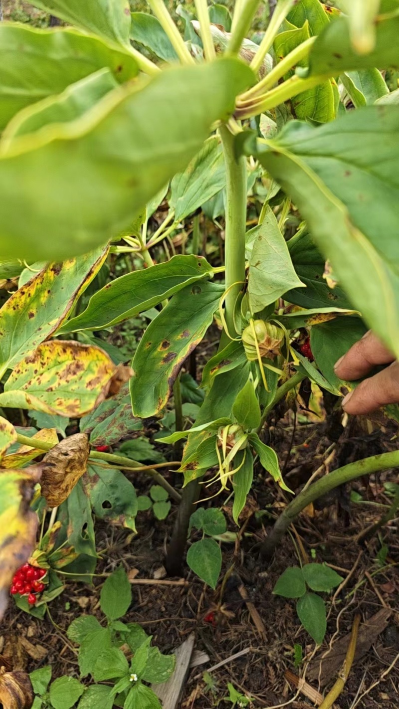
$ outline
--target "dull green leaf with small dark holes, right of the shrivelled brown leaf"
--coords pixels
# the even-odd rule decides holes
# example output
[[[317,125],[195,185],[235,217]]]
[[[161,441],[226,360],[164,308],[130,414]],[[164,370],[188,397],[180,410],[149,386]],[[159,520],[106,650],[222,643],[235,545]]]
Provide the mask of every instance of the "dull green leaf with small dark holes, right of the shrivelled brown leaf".
[[[83,486],[96,517],[135,532],[138,506],[136,492],[130,480],[120,470],[113,468],[89,466],[88,472],[89,475],[84,477]]]

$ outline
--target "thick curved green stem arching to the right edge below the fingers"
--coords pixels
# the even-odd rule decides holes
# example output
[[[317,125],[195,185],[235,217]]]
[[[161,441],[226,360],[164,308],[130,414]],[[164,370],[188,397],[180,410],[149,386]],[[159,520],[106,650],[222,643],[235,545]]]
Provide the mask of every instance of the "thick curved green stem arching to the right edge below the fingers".
[[[354,463],[344,465],[342,468],[337,468],[337,470],[317,480],[317,482],[310,485],[308,489],[300,492],[298,497],[290,502],[282,515],[280,515],[271,533],[262,545],[262,557],[268,560],[271,559],[274,554],[274,549],[279,545],[288,527],[311,502],[335,490],[339,485],[349,483],[363,475],[370,475],[379,470],[388,470],[389,468],[395,467],[399,467],[399,450],[390,453],[382,453],[380,455],[372,455],[369,458],[357,460]]]

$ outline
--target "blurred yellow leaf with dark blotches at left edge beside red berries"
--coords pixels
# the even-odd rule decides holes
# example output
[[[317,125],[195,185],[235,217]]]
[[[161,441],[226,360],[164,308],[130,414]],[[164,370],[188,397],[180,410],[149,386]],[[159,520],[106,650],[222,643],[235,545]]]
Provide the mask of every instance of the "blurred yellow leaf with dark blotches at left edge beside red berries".
[[[0,620],[9,599],[13,574],[35,546],[38,515],[29,508],[33,488],[40,479],[35,466],[0,471]]]

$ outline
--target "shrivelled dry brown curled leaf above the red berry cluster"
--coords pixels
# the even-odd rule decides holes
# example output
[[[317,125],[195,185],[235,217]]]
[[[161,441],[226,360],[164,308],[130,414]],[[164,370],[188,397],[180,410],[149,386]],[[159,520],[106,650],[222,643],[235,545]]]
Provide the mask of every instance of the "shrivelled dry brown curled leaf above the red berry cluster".
[[[42,495],[49,507],[57,507],[67,499],[86,471],[89,438],[77,433],[60,441],[45,454],[40,463]]]

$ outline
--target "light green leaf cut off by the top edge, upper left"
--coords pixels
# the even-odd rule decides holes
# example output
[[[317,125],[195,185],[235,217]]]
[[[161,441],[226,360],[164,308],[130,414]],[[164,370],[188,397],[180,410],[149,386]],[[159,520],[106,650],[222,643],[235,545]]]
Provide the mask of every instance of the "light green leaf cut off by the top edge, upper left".
[[[28,0],[82,30],[89,30],[121,45],[129,46],[130,7],[128,0]]]

